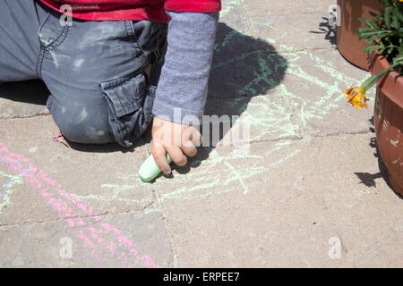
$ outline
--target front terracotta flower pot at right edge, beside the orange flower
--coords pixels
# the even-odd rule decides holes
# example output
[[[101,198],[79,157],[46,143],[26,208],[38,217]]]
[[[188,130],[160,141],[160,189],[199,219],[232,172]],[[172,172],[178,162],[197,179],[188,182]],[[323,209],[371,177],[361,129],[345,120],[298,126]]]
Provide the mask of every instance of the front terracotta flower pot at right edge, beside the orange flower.
[[[371,74],[390,67],[375,51],[368,57]],[[403,195],[403,76],[390,71],[377,82],[374,107],[376,142],[391,186]]]

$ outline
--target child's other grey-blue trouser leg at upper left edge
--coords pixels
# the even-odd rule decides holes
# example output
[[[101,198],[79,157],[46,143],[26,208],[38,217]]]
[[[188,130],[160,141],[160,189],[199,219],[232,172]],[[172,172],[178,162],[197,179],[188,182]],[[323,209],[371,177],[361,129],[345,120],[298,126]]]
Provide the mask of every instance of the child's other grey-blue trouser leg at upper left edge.
[[[34,1],[0,1],[0,82],[38,78],[37,33],[44,16]]]

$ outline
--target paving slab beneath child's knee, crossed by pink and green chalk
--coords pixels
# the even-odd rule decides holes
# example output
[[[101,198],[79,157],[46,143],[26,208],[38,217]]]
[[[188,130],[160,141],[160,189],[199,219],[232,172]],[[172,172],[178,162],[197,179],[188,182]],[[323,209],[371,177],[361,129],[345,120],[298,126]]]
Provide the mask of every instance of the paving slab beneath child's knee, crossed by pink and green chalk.
[[[72,192],[78,201],[90,203],[90,209],[76,210],[79,215],[124,213],[144,210],[153,204],[155,196],[150,184],[142,182],[136,174],[147,156],[144,147],[124,149],[115,144],[66,147],[52,140],[58,129],[51,116],[0,120],[0,130],[2,143],[9,149],[1,159],[4,183],[10,180],[7,177],[10,175],[18,179],[15,186],[24,178],[34,183],[34,186],[21,183],[13,187],[13,200],[3,210],[2,224],[59,217],[60,214],[47,207],[42,211],[37,209],[42,206],[42,192],[46,188],[38,184],[43,185],[47,180],[56,193]],[[21,210],[24,210],[23,216],[18,215]]]

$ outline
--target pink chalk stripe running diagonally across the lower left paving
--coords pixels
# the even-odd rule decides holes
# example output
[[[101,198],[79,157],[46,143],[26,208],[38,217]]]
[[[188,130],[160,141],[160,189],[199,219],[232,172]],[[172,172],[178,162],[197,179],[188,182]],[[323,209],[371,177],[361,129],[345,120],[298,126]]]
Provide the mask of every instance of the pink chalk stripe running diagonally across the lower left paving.
[[[125,236],[123,231],[109,223],[103,223],[100,215],[92,214],[91,206],[87,206],[81,198],[64,190],[60,184],[47,177],[47,174],[40,171],[29,159],[11,152],[2,142],[0,142],[0,163],[7,164],[10,171],[19,173],[24,181],[39,191],[40,196],[47,200],[47,203],[61,218],[64,218],[64,222],[69,227],[76,228],[76,236],[84,247],[90,248],[91,257],[100,265],[102,265],[102,259],[99,257],[99,249],[105,248],[109,256],[120,261],[122,265],[126,266],[129,259],[135,258],[145,267],[160,267],[150,256],[141,256],[140,252],[134,248],[135,243]],[[95,224],[86,223],[82,218],[84,216],[86,219],[93,220]],[[89,234],[86,235],[84,231]],[[112,234],[112,239],[102,236],[105,231]],[[122,249],[118,249],[118,246],[122,246]]]

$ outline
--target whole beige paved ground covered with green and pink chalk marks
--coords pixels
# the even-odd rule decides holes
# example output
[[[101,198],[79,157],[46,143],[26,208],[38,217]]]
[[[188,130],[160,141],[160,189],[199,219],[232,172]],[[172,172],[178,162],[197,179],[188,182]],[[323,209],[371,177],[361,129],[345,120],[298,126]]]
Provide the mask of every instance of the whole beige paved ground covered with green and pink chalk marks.
[[[39,81],[0,87],[0,266],[402,267],[403,200],[368,109],[367,72],[326,25],[333,0],[223,0],[207,114],[251,123],[144,183],[150,132],[123,149],[65,147]],[[227,136],[227,134],[226,134]]]

